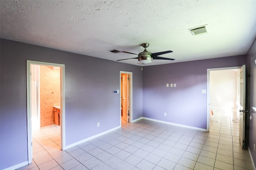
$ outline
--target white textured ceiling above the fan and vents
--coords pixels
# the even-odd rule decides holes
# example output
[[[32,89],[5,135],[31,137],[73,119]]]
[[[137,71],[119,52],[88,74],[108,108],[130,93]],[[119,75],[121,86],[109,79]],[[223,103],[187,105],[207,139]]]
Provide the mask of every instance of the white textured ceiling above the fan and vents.
[[[207,25],[206,25],[207,24]],[[206,25],[207,34],[188,29]],[[256,37],[256,0],[1,0],[1,38],[109,59],[118,49],[152,53],[166,64],[244,55]],[[137,59],[119,61],[138,64]]]

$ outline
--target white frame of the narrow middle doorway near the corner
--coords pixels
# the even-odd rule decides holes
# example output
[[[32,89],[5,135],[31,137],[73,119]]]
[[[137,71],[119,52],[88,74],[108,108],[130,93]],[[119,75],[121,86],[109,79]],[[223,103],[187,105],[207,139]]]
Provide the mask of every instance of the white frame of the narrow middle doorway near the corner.
[[[121,89],[121,75],[122,74],[130,74],[130,81],[129,81],[129,83],[130,83],[130,94],[129,94],[129,96],[130,96],[130,98],[129,98],[129,100],[130,100],[130,119],[129,119],[129,122],[130,123],[132,123],[133,121],[132,121],[132,72],[127,72],[127,71],[120,71],[120,75],[119,75],[119,78],[120,78],[120,90],[122,90]],[[121,117],[121,93],[120,93],[120,126],[122,125],[122,117]]]

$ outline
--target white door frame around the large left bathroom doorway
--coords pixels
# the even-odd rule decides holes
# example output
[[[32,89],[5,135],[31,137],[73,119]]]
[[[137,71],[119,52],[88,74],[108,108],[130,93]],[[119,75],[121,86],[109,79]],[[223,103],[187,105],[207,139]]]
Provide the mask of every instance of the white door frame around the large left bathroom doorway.
[[[61,111],[61,150],[65,150],[65,65],[27,60],[27,127],[28,127],[28,164],[32,163],[32,111],[31,111],[31,65],[60,67],[60,111]]]

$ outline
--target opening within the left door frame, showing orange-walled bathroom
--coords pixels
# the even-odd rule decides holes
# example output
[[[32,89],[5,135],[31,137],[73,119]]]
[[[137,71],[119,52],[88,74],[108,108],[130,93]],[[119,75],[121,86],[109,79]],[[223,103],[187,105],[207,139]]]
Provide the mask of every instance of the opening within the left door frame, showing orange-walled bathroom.
[[[32,64],[31,79],[33,150],[39,145],[60,149],[60,67]],[[44,144],[48,139],[52,142]]]

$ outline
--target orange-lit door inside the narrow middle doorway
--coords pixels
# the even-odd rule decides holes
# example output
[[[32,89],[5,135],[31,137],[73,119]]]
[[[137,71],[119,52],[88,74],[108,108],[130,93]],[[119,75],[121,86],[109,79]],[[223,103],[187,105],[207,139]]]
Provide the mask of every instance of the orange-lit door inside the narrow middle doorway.
[[[123,119],[129,122],[128,117],[128,74],[123,74]]]

